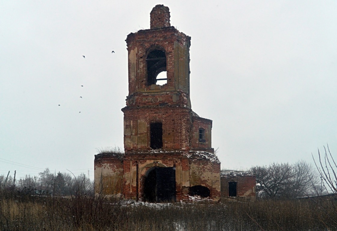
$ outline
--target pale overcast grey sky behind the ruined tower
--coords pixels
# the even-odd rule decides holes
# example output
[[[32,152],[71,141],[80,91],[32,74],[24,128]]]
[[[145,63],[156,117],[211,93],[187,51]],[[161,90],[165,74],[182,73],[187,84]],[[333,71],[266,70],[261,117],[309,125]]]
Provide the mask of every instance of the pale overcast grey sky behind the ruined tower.
[[[192,109],[222,168],[336,156],[337,1],[0,1],[0,175],[92,178],[96,148],[123,147],[125,39],[156,4],[192,37]]]

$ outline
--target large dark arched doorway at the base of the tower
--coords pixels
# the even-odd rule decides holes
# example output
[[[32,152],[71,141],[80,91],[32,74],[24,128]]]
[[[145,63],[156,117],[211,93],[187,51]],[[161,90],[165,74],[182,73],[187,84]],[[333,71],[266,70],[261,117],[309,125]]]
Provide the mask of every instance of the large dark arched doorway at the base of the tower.
[[[154,167],[151,169],[145,179],[144,199],[148,202],[175,202],[175,168]]]

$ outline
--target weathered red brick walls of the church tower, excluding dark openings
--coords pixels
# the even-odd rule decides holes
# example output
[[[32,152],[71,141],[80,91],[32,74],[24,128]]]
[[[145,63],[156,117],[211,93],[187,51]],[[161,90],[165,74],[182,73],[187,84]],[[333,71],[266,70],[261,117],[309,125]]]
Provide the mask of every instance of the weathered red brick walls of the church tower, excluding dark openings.
[[[220,162],[211,148],[212,121],[192,116],[189,99],[189,47],[191,37],[170,26],[168,7],[156,5],[150,14],[150,28],[130,33],[128,50],[129,94],[124,112],[124,149],[122,158],[95,156],[95,185],[99,176],[123,188],[125,198],[142,198],[146,172],[159,164],[176,167],[177,201],[188,199],[190,186],[202,185],[211,191],[211,198],[220,197]],[[164,50],[167,83],[148,85],[147,55]],[[163,59],[162,59],[163,60]],[[164,65],[162,66],[164,68]],[[161,70],[161,69],[160,69]],[[162,123],[163,147],[150,148],[150,124]],[[205,143],[198,141],[198,129],[205,129]],[[195,150],[189,152],[190,149]],[[194,157],[195,155],[195,157]],[[203,158],[205,157],[205,158]],[[117,191],[104,181],[104,192]],[[108,185],[108,187],[106,187]]]

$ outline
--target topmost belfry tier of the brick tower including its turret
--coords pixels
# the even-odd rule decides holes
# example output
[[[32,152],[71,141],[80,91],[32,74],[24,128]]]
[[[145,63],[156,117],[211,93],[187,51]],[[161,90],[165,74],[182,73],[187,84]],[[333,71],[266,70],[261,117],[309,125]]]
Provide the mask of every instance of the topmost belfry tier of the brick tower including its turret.
[[[190,107],[189,47],[191,37],[170,25],[167,6],[156,5],[150,13],[150,29],[130,33],[126,38],[129,63],[129,95],[127,105],[141,106],[139,96],[164,95],[161,103]],[[164,78],[158,74],[164,72]],[[177,103],[179,95],[185,102]],[[143,95],[144,96],[144,95]],[[173,101],[174,98],[174,101]],[[159,102],[159,101],[158,101]]]

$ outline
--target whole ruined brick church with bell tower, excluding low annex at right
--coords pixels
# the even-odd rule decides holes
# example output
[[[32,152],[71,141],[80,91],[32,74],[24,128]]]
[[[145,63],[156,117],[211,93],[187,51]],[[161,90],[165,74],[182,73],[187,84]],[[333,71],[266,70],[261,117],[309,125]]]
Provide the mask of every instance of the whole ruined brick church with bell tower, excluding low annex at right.
[[[127,36],[125,152],[95,155],[96,193],[149,202],[220,198],[212,121],[191,109],[190,40],[163,5],[152,9],[150,29]]]

